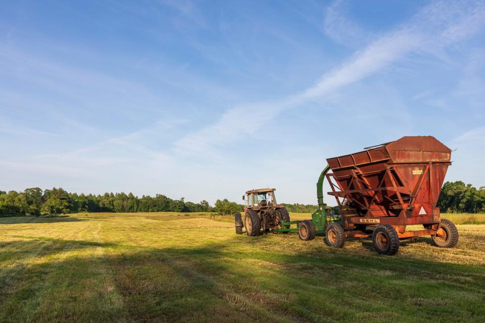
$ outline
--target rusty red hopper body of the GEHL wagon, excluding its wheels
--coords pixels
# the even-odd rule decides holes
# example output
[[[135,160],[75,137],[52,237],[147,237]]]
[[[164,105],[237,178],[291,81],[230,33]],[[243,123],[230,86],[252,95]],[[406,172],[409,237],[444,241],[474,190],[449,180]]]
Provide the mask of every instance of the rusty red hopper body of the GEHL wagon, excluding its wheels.
[[[451,149],[434,137],[403,137],[328,158],[333,172],[326,175],[328,194],[343,210],[344,227],[437,223],[436,203],[450,160]],[[379,222],[363,223],[363,218]]]

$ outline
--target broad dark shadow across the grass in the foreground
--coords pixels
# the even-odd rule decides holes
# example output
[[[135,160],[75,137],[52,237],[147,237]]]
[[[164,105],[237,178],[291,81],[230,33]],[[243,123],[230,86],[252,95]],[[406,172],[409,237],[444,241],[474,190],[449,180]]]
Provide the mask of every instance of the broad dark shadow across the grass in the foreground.
[[[36,257],[58,257],[6,268],[0,276],[0,321],[9,315],[14,321],[246,323],[485,318],[482,266],[362,255],[316,244],[292,253],[263,237],[167,248],[28,240],[14,250],[17,255],[37,250]],[[362,243],[372,247],[371,241]],[[104,252],[62,257],[86,246]],[[113,302],[117,297],[121,300]]]

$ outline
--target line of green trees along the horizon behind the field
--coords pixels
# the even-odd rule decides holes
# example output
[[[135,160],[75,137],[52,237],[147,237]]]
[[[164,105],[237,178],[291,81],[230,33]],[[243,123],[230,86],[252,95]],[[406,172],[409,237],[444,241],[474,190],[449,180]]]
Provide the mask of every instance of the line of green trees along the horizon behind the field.
[[[289,212],[311,213],[317,209],[312,204],[286,204]],[[476,189],[471,184],[446,182],[438,200],[442,212],[485,212],[485,187]],[[132,193],[105,193],[84,195],[68,193],[62,188],[42,191],[27,188],[23,192],[0,191],[0,217],[41,216],[77,212],[217,212],[233,214],[244,210],[243,204],[227,199],[217,200],[214,206],[203,200],[186,202],[184,198],[173,200],[165,195],[137,197]]]

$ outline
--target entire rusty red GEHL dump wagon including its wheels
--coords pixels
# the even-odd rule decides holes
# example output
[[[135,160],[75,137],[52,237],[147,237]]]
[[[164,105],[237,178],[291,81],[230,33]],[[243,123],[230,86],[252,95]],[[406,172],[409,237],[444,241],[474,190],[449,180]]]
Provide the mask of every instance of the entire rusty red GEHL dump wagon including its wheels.
[[[327,159],[325,174],[341,209],[340,224],[327,225],[325,240],[342,246],[342,236],[372,235],[376,250],[394,254],[400,239],[430,235],[440,247],[454,247],[458,231],[440,219],[436,207],[451,149],[431,136],[403,137],[357,153]],[[422,230],[406,231],[409,225]]]

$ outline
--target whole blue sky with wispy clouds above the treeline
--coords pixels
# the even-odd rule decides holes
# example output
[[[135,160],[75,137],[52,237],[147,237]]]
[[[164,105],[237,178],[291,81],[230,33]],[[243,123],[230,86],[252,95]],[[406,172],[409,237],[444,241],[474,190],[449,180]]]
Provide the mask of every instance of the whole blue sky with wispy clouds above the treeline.
[[[0,189],[315,203],[325,158],[404,135],[485,186],[484,27],[483,1],[2,2]]]

